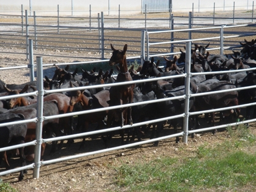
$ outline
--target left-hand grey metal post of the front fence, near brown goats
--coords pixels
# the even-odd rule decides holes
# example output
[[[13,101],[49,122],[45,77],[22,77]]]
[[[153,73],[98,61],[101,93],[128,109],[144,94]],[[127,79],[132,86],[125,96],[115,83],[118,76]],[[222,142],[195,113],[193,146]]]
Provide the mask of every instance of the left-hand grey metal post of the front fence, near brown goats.
[[[39,178],[40,172],[40,156],[42,145],[42,128],[43,128],[43,59],[37,56],[37,123],[36,123],[36,147],[35,147],[35,167],[33,171],[33,178]]]

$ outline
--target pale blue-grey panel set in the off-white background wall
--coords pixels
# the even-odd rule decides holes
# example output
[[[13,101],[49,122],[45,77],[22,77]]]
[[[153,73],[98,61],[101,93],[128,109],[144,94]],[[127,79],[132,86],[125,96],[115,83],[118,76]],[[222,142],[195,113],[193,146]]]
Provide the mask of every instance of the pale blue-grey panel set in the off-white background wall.
[[[142,12],[145,13],[145,9],[147,13],[167,12],[167,9],[170,9],[171,1],[172,0],[143,0]]]

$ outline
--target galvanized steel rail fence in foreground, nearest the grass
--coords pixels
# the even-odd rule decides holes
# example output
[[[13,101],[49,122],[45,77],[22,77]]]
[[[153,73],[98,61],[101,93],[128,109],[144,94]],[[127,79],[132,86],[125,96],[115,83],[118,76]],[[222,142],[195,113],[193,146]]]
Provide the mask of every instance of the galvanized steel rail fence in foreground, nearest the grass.
[[[219,29],[219,28],[217,28]],[[190,30],[195,30],[195,29],[190,29]],[[230,37],[231,38],[231,37]],[[149,40],[148,40],[149,42]],[[190,42],[192,42],[192,40],[184,40],[183,41],[184,43],[188,42],[186,45],[186,50],[187,50],[187,55],[186,57],[189,58],[190,57]],[[175,43],[175,42],[168,42],[168,43]],[[149,57],[151,57],[152,55],[151,54],[148,54]],[[127,58],[129,59],[129,58]],[[105,60],[106,61],[106,60]],[[105,61],[98,61],[98,62],[105,62]],[[81,64],[83,62],[79,62],[78,64]],[[76,64],[76,63],[72,63],[72,64]],[[49,65],[49,64],[48,64]],[[66,64],[62,64],[62,65],[66,65]],[[190,65],[190,62],[188,61],[186,63],[187,67]],[[37,94],[37,99],[38,101],[42,101],[42,95],[45,94],[45,93],[51,93],[51,92],[59,92],[61,91],[62,89],[59,89],[59,90],[42,90],[42,83],[43,83],[43,76],[42,76],[42,72],[40,72],[39,70],[42,70],[41,67],[43,66],[42,64],[42,57],[37,57],[37,81],[39,83],[39,87],[41,87],[39,90],[37,90],[36,93],[33,93],[33,94]],[[249,70],[249,69],[247,69]],[[247,70],[241,70],[241,71],[247,71]],[[217,72],[214,72],[214,73],[217,73]],[[219,72],[219,73],[227,73],[227,72]],[[200,74],[194,74],[192,73],[192,75],[203,75],[204,73],[200,73]],[[183,75],[179,75],[179,76],[175,76],[175,78],[178,78],[180,76],[190,76],[189,75],[189,72],[186,73],[186,74],[183,74]],[[168,79],[168,78],[173,78],[173,76],[171,77],[162,77],[162,78],[156,78],[156,79]],[[137,82],[145,82],[145,81],[152,81],[152,80],[156,80],[156,79],[147,79],[147,80],[140,80],[140,81],[136,81],[136,82],[132,82],[132,83],[137,83]],[[186,80],[186,84],[189,83],[189,78],[187,78]],[[121,84],[129,84],[129,82],[127,83],[121,83]],[[118,86],[119,84],[116,83],[114,85],[111,84],[111,86]],[[104,86],[109,86],[107,84],[105,85],[102,85],[103,87]],[[91,86],[91,87],[100,87],[100,86]],[[72,88],[72,89],[67,89],[67,90],[80,90],[80,89],[90,89],[91,87],[77,87],[77,88]],[[188,87],[188,86],[187,86]],[[255,88],[255,87],[253,87]],[[244,88],[246,89],[246,88]],[[66,90],[66,89],[64,89]],[[186,89],[187,90],[187,89]],[[235,90],[235,89],[234,89]],[[237,89],[239,90],[239,89]],[[229,91],[229,90],[225,90],[225,91]],[[216,93],[216,92],[214,92]],[[208,94],[213,94],[212,92],[209,92]],[[22,95],[19,95],[19,96],[22,96]],[[9,96],[9,97],[19,97],[19,96]],[[189,95],[188,92],[186,91],[184,95],[181,95],[179,98],[186,98],[188,99],[189,97],[195,97],[197,96],[197,94],[192,94],[192,95]],[[1,97],[0,99],[5,99],[5,98],[9,98],[9,97]],[[177,97],[176,97],[177,98]],[[164,98],[164,99],[161,99],[161,100],[154,100],[154,101],[150,101],[150,102],[161,102],[161,101],[165,101],[165,100],[173,100],[175,98]],[[147,102],[141,102],[141,104],[143,103],[147,103]],[[149,102],[148,102],[149,103]],[[133,105],[139,105],[140,103],[133,103],[133,104],[130,104],[130,105],[122,105],[122,106],[113,106],[113,107],[110,107],[110,108],[107,108],[107,109],[116,109],[116,108],[123,108],[123,107],[127,107],[127,106],[133,106]],[[255,105],[256,103],[250,103],[250,105]],[[241,106],[247,106],[247,105],[241,105]],[[239,106],[236,106],[236,108],[239,107]],[[222,108],[222,109],[214,109],[214,110],[208,110],[208,111],[200,111],[200,112],[197,112],[198,113],[204,113],[204,112],[211,112],[211,111],[220,111],[220,110],[224,110],[224,109],[230,109],[231,107],[229,108]],[[39,109],[42,109],[42,106],[39,106]],[[106,109],[106,108],[105,108]],[[40,127],[40,124],[42,124],[43,122],[43,119],[47,119],[47,118],[56,118],[56,117],[64,117],[64,116],[73,116],[73,115],[77,115],[77,114],[85,114],[85,113],[94,113],[95,111],[99,111],[99,110],[105,110],[105,109],[97,109],[97,110],[88,110],[88,111],[81,111],[81,112],[76,112],[76,113],[70,113],[70,114],[62,114],[62,115],[59,115],[59,116],[55,116],[55,117],[43,117],[42,116],[42,113],[40,114],[39,113],[39,117],[37,118],[38,119],[38,127],[37,127],[37,139],[36,139],[36,143],[35,142],[31,142],[29,144],[36,144],[37,147],[36,147],[36,154],[37,154],[37,157],[35,159],[35,163],[27,166],[27,167],[23,167],[23,168],[18,168],[18,169],[13,169],[12,171],[13,172],[16,172],[20,169],[25,169],[25,168],[34,168],[34,174],[33,174],[33,177],[36,177],[38,178],[39,177],[39,172],[40,172],[40,165],[41,164],[50,164],[50,163],[56,163],[56,162],[59,162],[59,161],[63,161],[63,160],[69,160],[69,159],[72,159],[72,158],[80,158],[80,157],[85,157],[87,155],[92,155],[92,154],[96,154],[96,153],[102,153],[102,152],[108,152],[110,150],[116,150],[116,149],[123,149],[123,148],[126,148],[126,147],[131,147],[131,146],[135,146],[135,145],[140,145],[140,144],[146,144],[148,142],[154,142],[154,141],[157,141],[157,140],[160,140],[160,139],[167,139],[167,138],[173,138],[173,137],[176,137],[176,136],[184,136],[183,137],[183,141],[184,142],[187,142],[187,135],[189,135],[190,133],[196,133],[198,131],[206,131],[206,130],[213,130],[214,128],[220,128],[220,127],[227,127],[228,125],[219,125],[217,127],[209,127],[209,128],[203,128],[203,129],[198,129],[198,130],[193,130],[193,131],[189,131],[187,129],[187,127],[189,126],[189,124],[187,123],[187,119],[190,115],[192,114],[196,114],[196,113],[190,113],[189,111],[187,111],[187,108],[186,108],[186,111],[184,111],[183,114],[178,114],[176,116],[171,116],[171,117],[165,117],[165,118],[162,118],[162,119],[158,119],[158,120],[151,120],[151,121],[146,121],[146,122],[140,122],[138,124],[134,124],[134,125],[125,125],[124,127],[112,127],[112,128],[108,128],[107,130],[100,130],[100,131],[92,131],[92,132],[89,132],[89,133],[81,133],[81,134],[77,134],[77,135],[70,135],[70,136],[62,136],[62,137],[59,137],[59,138],[53,138],[53,139],[42,139],[40,137],[40,133],[42,132],[42,127]],[[134,143],[134,144],[128,144],[128,145],[124,145],[124,146],[118,146],[118,147],[112,147],[110,149],[102,149],[102,150],[98,150],[96,152],[89,152],[89,153],[81,153],[79,155],[75,155],[75,156],[70,156],[70,157],[64,157],[64,158],[58,158],[56,160],[49,160],[49,161],[40,161],[40,145],[42,144],[42,142],[50,142],[50,141],[57,141],[57,140],[60,140],[60,139],[68,139],[68,138],[75,138],[75,137],[80,137],[80,136],[88,136],[88,135],[91,135],[91,134],[95,134],[95,133],[103,133],[105,131],[113,131],[113,130],[120,130],[120,129],[125,129],[125,128],[130,128],[130,127],[135,127],[135,126],[138,126],[138,125],[143,125],[143,124],[149,124],[151,122],[160,122],[162,120],[168,120],[168,119],[174,119],[174,118],[178,118],[178,117],[186,117],[184,118],[184,129],[183,131],[181,131],[181,133],[178,133],[178,134],[175,134],[175,135],[169,135],[169,136],[163,136],[161,138],[156,138],[156,139],[150,139],[150,140],[146,140],[146,141],[141,141],[141,142],[137,142],[137,143]],[[255,120],[255,119],[254,119]],[[247,120],[247,121],[244,121],[244,122],[234,122],[233,124],[230,124],[230,125],[238,125],[238,124],[243,124],[245,122],[253,122],[254,120]],[[6,125],[6,124],[4,124]],[[27,144],[26,144],[27,145]],[[10,147],[10,148],[4,148],[4,149],[1,149],[1,150],[7,150],[7,149],[13,149],[13,147]],[[6,172],[0,172],[0,175],[4,175],[6,174]]]

